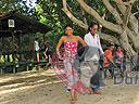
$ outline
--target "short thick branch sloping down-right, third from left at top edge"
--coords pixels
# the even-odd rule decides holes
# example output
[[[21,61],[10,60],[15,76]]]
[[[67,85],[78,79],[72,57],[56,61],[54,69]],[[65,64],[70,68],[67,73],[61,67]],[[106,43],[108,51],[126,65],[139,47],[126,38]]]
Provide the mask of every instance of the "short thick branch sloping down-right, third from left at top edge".
[[[115,17],[116,23],[117,23],[117,24],[122,24],[123,21],[122,21],[122,18],[121,18],[119,13],[116,11],[116,9],[114,9],[114,8],[111,5],[111,3],[109,2],[109,0],[102,0],[102,1],[103,1],[104,5],[106,6],[106,9],[108,9],[108,10],[113,14],[113,16]]]

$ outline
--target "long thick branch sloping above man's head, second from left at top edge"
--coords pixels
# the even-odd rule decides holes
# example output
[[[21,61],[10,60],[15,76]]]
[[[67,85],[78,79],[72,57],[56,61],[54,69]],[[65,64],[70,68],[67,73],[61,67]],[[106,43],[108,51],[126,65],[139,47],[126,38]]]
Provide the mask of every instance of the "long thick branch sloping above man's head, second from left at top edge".
[[[115,25],[111,22],[103,20],[91,6],[87,5],[84,0],[76,0],[80,6],[91,16],[93,16],[100,24],[102,24],[105,28],[113,30],[117,34],[122,34],[122,28],[119,25]]]

